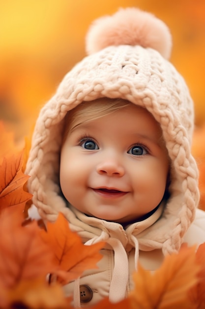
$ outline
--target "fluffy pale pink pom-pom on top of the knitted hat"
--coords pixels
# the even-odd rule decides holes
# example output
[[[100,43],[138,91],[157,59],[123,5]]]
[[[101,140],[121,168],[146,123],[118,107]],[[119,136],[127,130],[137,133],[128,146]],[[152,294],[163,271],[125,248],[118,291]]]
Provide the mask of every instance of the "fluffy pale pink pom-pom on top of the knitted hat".
[[[172,36],[167,25],[153,14],[134,7],[121,8],[112,16],[96,19],[86,37],[89,55],[111,45],[151,47],[169,59]]]

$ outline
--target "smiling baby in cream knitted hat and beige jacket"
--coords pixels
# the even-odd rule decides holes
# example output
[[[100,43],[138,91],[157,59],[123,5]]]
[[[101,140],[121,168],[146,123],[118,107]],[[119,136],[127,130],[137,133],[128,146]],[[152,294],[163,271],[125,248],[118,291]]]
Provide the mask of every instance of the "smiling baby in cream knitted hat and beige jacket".
[[[86,245],[106,242],[99,268],[64,287],[75,307],[119,302],[138,261],[155,270],[183,242],[205,241],[193,102],[167,60],[167,26],[120,9],[91,26],[87,51],[42,108],[26,169],[45,222],[62,212]]]

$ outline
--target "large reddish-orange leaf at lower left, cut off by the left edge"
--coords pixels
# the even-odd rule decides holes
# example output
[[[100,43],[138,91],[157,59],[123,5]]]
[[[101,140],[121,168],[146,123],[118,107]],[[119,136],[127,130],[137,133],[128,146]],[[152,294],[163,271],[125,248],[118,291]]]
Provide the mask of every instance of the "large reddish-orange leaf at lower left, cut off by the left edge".
[[[26,227],[13,217],[0,220],[0,286],[12,288],[22,280],[44,278],[56,270],[53,252],[42,241],[36,222]]]

